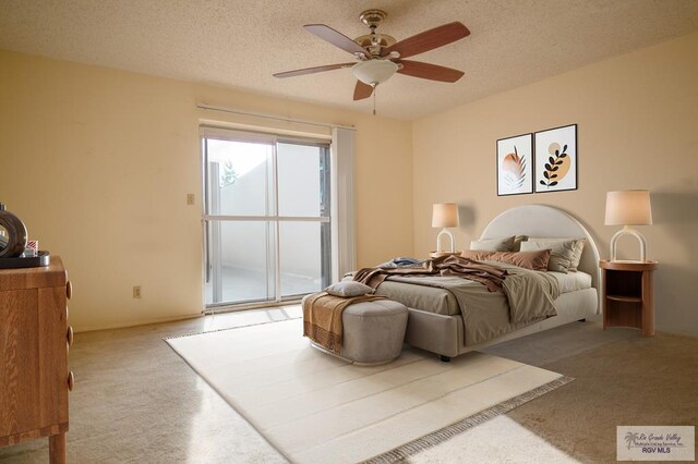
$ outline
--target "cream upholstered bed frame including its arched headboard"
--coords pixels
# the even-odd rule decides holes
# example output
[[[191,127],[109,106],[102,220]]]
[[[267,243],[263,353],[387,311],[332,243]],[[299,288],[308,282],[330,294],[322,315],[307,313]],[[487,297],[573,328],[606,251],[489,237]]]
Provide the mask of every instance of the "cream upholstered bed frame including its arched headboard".
[[[444,316],[409,308],[410,317],[405,338],[407,343],[436,353],[443,361],[447,361],[469,351],[586,319],[599,313],[601,294],[599,249],[589,231],[577,219],[552,206],[517,206],[494,218],[482,232],[481,239],[510,235],[586,239],[587,243],[578,269],[591,276],[591,289],[562,294],[555,300],[557,316],[471,346],[465,345],[464,322],[460,315]]]

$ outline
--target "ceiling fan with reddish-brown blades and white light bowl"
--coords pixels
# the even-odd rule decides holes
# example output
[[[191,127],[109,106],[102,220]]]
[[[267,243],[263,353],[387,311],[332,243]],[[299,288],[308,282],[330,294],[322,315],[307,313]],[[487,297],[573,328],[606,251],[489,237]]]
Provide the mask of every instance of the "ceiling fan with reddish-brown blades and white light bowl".
[[[386,16],[387,13],[382,10],[366,10],[362,12],[359,15],[359,20],[371,29],[371,33],[357,37],[354,40],[325,24],[306,24],[303,26],[305,30],[328,41],[335,47],[348,51],[359,61],[287,71],[276,73],[274,77],[292,77],[341,68],[351,68],[351,72],[354,77],[357,77],[357,86],[353,90],[354,100],[369,98],[378,84],[390,78],[396,72],[412,77],[440,82],[456,82],[462,77],[462,71],[423,63],[421,61],[405,60],[405,58],[423,53],[468,37],[470,30],[468,30],[465,25],[456,21],[396,41],[392,36],[376,34],[375,32],[376,27],[378,27]]]

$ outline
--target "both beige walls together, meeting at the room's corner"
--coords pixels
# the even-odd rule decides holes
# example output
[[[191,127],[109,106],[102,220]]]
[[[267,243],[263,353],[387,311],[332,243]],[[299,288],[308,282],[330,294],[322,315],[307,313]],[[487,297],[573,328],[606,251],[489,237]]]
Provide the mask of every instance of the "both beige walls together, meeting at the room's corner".
[[[697,50],[688,35],[411,124],[0,51],[0,200],[63,256],[76,329],[195,315],[201,210],[184,202],[201,191],[195,103],[356,125],[359,266],[433,249],[431,205],[447,200],[467,211],[459,247],[503,209],[542,203],[578,217],[606,256],[605,192],[649,188],[658,327],[698,334]],[[495,141],[569,123],[579,188],[497,197]]]

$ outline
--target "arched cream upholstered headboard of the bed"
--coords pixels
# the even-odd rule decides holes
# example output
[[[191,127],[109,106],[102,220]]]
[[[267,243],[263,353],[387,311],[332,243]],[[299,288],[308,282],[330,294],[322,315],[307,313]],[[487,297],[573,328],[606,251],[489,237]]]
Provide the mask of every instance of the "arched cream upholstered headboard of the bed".
[[[481,239],[507,235],[587,239],[578,269],[590,274],[591,285],[599,290],[599,248],[589,231],[567,212],[547,205],[516,206],[494,218],[484,228]]]

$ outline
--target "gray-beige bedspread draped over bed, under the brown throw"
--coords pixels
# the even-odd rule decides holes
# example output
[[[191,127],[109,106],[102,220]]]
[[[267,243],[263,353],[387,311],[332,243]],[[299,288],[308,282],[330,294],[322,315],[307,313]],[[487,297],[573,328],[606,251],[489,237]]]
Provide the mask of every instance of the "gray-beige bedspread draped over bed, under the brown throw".
[[[376,293],[413,307],[401,297],[400,293],[405,291],[402,290],[404,285],[389,285],[389,282],[448,290],[460,307],[466,345],[483,343],[516,328],[538,322],[557,314],[553,301],[559,296],[559,284],[554,277],[516,266],[500,262],[496,265],[510,272],[504,280],[503,292],[489,292],[481,283],[458,277],[390,276],[386,282],[378,286]],[[413,302],[414,293],[419,293],[419,290],[411,289],[407,292],[411,293],[409,300]],[[443,301],[434,303],[441,305]],[[426,298],[421,302],[420,306],[422,305],[431,306]],[[421,308],[417,307],[417,309]],[[422,309],[429,310],[430,308],[422,307]]]

